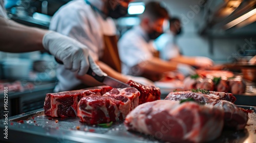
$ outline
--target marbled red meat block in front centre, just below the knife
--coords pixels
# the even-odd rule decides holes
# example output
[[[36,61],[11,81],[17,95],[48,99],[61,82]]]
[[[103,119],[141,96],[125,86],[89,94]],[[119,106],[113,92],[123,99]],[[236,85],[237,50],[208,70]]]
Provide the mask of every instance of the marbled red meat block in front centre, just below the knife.
[[[136,88],[114,88],[102,96],[83,97],[78,103],[77,116],[88,124],[123,120],[138,106],[140,92]]]

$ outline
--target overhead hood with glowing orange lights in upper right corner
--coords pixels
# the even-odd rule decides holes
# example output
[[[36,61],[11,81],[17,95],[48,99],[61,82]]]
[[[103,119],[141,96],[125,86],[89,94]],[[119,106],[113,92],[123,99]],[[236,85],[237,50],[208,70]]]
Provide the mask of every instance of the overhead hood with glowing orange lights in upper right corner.
[[[256,36],[256,0],[212,0],[205,3],[200,34]]]

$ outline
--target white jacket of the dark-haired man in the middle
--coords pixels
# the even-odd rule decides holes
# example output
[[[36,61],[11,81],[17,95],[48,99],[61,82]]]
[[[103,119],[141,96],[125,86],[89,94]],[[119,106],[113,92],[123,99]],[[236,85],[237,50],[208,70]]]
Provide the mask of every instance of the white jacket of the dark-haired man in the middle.
[[[136,26],[124,33],[118,41],[118,52],[122,62],[122,73],[125,75],[140,76],[134,66],[153,57],[156,52],[153,43],[141,26]],[[137,75],[138,74],[138,75]]]

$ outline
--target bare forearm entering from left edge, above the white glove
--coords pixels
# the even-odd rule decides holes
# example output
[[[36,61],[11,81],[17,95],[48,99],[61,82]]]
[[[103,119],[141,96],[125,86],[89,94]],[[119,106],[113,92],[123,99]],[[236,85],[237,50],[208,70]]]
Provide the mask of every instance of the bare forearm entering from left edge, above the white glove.
[[[43,50],[42,38],[46,30],[30,28],[0,17],[0,50],[19,53]]]

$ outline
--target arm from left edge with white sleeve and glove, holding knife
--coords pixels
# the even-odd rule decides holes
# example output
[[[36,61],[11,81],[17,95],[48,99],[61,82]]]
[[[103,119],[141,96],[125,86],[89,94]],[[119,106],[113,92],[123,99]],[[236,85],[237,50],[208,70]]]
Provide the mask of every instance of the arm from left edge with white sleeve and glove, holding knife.
[[[7,19],[3,0],[0,0],[0,43],[0,51],[3,52],[20,53],[45,49],[61,60],[63,67],[78,75],[86,74],[89,66],[97,75],[103,75],[90,57],[86,45],[53,31],[30,28]]]

